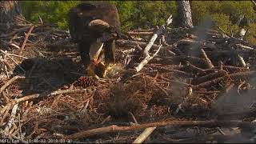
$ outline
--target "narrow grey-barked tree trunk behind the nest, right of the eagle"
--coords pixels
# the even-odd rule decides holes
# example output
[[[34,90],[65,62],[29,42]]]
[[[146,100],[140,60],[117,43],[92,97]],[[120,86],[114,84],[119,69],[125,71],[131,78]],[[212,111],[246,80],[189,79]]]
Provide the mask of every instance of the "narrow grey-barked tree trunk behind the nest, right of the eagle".
[[[190,1],[177,1],[178,2],[178,14],[182,21],[182,26],[193,28],[192,14],[190,9]]]

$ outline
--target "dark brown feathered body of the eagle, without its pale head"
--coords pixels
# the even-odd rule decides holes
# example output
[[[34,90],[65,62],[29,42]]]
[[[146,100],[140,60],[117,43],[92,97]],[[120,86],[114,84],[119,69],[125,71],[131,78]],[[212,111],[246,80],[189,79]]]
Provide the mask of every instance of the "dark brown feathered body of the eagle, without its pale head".
[[[107,22],[111,29],[90,29],[90,22],[100,19]],[[70,36],[74,42],[78,43],[82,62],[85,66],[90,64],[90,46],[101,38],[102,34],[109,35],[120,30],[118,10],[116,6],[109,2],[82,2],[70,9],[69,13]],[[114,62],[115,38],[110,38],[104,42],[105,62]]]

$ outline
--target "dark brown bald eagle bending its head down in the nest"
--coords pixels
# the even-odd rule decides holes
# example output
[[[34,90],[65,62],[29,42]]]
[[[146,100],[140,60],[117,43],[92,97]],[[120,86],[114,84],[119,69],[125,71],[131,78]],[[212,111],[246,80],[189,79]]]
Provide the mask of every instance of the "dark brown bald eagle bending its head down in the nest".
[[[103,70],[106,75],[110,64],[115,62],[115,40],[120,35],[120,22],[116,6],[110,2],[82,2],[70,9],[70,37],[78,43],[82,63]],[[103,49],[104,65],[98,56]],[[102,67],[102,69],[101,69]],[[105,71],[104,71],[105,70]]]

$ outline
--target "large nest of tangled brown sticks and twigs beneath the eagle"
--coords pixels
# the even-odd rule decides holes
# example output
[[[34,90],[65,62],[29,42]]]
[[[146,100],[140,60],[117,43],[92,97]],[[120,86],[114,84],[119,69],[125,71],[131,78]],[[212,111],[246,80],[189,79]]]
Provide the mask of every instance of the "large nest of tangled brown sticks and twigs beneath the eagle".
[[[159,53],[134,73],[130,69],[142,61],[143,48],[156,31],[134,30],[130,32],[133,39],[117,42],[117,66],[111,77],[97,80],[85,75],[68,32],[37,25],[28,33],[30,27],[11,26],[0,34],[2,137],[25,142],[111,124],[255,119],[255,46],[241,39],[205,28],[168,28],[162,34],[166,41],[158,36],[150,50],[154,54],[161,39]],[[235,142],[250,142],[252,137],[222,130],[228,136],[211,140],[230,142],[234,133],[242,135]],[[219,131],[217,127],[198,131],[163,126],[146,142],[207,142]],[[138,132],[74,142],[133,142]]]

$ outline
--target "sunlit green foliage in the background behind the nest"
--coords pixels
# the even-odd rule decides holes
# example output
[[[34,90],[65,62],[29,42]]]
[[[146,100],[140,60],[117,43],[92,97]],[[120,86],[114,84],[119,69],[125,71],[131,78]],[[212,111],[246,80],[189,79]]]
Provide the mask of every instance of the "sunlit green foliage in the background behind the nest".
[[[22,12],[31,22],[51,23],[62,30],[68,29],[67,14],[80,1],[22,1]],[[177,3],[175,1],[110,1],[118,8],[122,30],[146,29],[161,26],[170,14],[179,26]],[[191,1],[194,26],[210,18],[215,26],[234,33],[238,30],[238,19],[244,15],[250,20],[247,40],[256,44],[256,14],[250,1]]]

